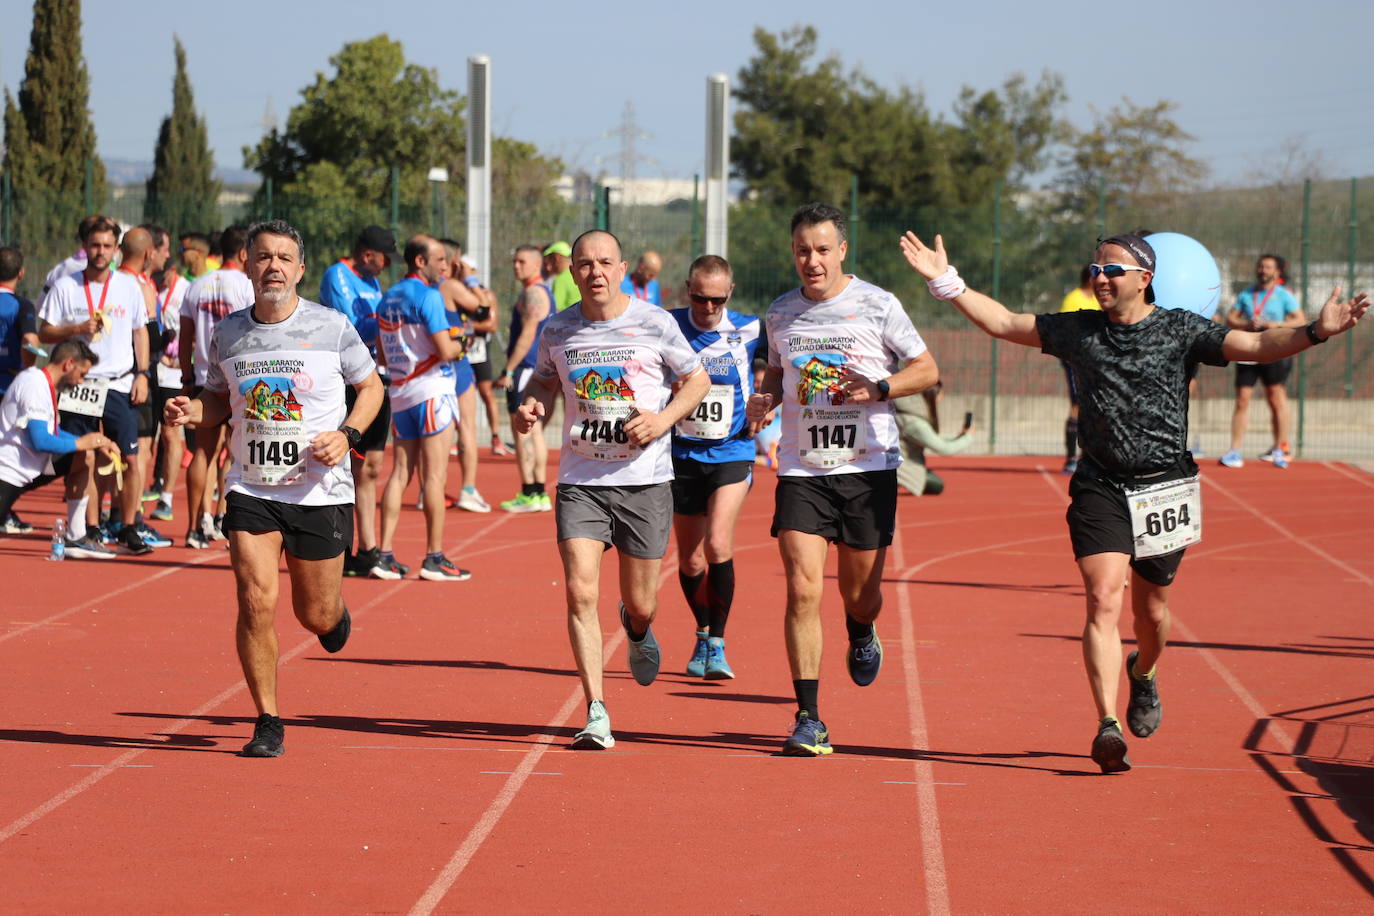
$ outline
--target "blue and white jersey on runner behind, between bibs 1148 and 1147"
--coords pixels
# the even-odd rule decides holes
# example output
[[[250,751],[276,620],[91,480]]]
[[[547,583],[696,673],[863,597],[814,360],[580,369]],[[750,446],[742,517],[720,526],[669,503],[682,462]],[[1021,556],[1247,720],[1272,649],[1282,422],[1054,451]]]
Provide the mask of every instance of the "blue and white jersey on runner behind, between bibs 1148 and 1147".
[[[725,309],[720,324],[703,331],[692,321],[691,309],[668,313],[710,375],[706,397],[673,427],[673,457],[708,464],[753,461],[745,402],[754,393],[754,360],[768,353],[763,323],[756,316]]]

